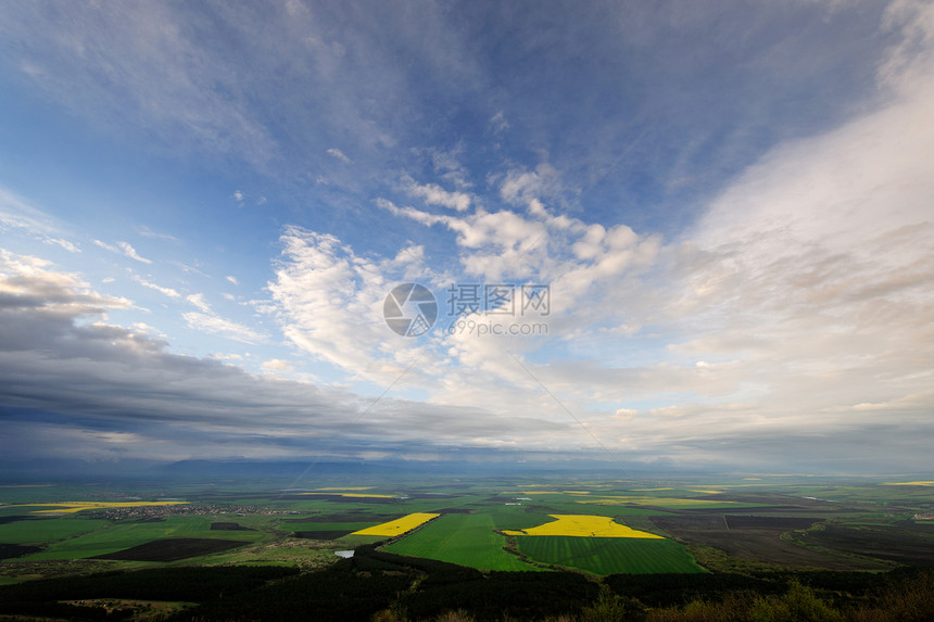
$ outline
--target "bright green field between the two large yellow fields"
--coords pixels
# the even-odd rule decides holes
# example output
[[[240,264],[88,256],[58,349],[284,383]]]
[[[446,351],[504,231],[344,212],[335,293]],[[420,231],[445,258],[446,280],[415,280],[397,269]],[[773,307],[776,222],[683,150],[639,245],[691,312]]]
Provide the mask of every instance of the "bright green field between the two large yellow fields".
[[[445,515],[384,550],[480,570],[539,570],[503,550],[506,538],[494,529],[488,513]]]

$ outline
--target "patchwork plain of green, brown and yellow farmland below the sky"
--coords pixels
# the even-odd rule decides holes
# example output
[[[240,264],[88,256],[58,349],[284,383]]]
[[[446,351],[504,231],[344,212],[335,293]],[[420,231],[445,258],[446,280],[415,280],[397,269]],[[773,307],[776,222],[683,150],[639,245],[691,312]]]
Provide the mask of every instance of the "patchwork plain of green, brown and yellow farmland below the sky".
[[[5,487],[0,582],[184,563],[312,570],[336,563],[336,550],[374,544],[484,571],[887,570],[934,563],[929,482],[437,477]]]

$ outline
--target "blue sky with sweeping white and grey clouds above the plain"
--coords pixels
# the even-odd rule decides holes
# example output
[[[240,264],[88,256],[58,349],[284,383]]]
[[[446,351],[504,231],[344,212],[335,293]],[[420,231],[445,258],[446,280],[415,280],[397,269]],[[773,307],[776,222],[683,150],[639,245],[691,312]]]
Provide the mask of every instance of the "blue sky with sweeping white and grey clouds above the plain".
[[[4,2],[0,41],[7,460],[931,468],[931,2]]]

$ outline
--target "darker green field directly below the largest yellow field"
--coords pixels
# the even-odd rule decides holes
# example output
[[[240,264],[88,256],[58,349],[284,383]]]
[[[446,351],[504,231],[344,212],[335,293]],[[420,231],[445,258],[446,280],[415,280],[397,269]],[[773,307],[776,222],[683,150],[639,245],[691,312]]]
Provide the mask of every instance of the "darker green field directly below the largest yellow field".
[[[634,537],[519,536],[519,551],[543,563],[580,568],[594,574],[704,572],[683,545]]]

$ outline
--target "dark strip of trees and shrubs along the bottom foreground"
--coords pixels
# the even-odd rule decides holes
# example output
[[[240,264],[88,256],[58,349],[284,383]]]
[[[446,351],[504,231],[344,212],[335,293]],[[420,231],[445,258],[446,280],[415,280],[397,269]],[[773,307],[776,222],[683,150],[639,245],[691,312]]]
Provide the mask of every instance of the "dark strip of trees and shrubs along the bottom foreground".
[[[126,601],[189,605],[141,617]],[[307,573],[268,566],[174,567],[0,587],[0,618],[14,615],[179,622],[911,622],[934,620],[934,570],[615,574],[596,580],[578,572],[484,573],[365,546],[351,559]]]

